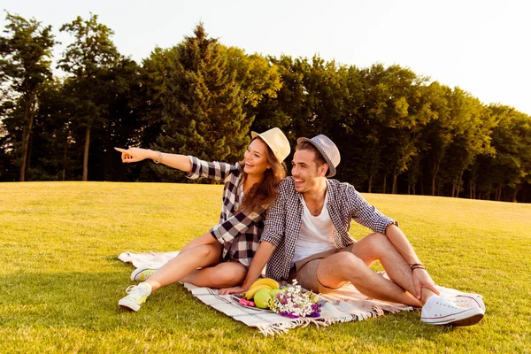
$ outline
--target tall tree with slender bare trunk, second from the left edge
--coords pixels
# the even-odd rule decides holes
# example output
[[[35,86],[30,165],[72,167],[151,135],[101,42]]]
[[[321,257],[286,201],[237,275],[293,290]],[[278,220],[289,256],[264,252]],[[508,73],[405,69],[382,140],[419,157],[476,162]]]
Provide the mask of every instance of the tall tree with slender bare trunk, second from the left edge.
[[[82,181],[89,178],[90,132],[101,127],[108,119],[105,75],[112,66],[118,65],[119,53],[111,40],[112,29],[97,22],[97,15],[90,14],[88,20],[80,16],[60,28],[70,33],[75,41],[68,45],[59,67],[71,73],[73,97],[77,100],[77,125],[84,128],[85,146],[83,152]]]

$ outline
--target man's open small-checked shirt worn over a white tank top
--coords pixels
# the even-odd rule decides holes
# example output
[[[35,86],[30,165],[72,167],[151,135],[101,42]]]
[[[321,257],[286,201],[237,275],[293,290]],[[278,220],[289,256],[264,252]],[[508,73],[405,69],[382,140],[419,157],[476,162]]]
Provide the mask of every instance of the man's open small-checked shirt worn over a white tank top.
[[[397,225],[394,219],[388,218],[368,204],[349,183],[327,180],[327,192],[327,209],[334,224],[332,235],[336,249],[356,242],[349,235],[351,219],[381,234],[385,234],[389,224]],[[293,177],[288,177],[281,182],[279,195],[267,212],[264,234],[260,241],[271,242],[276,246],[267,263],[267,277],[276,280],[288,279],[304,212],[302,197],[302,194],[295,190]]]

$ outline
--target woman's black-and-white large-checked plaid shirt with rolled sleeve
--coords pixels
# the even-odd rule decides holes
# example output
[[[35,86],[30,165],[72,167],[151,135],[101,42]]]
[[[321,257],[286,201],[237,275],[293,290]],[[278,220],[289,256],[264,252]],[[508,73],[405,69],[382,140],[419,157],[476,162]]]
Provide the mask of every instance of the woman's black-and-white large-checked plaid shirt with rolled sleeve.
[[[212,227],[211,234],[223,244],[223,258],[249,267],[264,230],[266,210],[236,212],[243,199],[242,170],[237,163],[206,162],[192,156],[189,159],[192,163],[192,171],[186,175],[189,179],[206,177],[225,183],[219,223]]]

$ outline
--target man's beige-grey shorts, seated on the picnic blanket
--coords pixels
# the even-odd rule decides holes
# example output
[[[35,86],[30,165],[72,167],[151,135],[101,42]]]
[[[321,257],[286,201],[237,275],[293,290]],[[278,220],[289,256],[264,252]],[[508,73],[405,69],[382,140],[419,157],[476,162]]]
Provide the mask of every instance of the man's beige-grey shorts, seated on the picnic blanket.
[[[316,294],[326,294],[341,288],[332,289],[321,284],[319,279],[317,279],[317,266],[319,266],[321,260],[335,255],[335,253],[346,251],[351,252],[353,245],[354,243],[342,249],[325,250],[324,252],[316,253],[308,258],[299,260],[289,272],[288,281],[291,282],[296,279],[301,287],[307,290],[312,290]]]

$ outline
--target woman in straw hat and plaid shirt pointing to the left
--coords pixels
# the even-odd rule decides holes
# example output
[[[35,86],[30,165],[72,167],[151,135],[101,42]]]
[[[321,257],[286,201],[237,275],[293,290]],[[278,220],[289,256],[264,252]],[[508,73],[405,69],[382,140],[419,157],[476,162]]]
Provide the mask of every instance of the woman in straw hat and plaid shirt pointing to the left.
[[[136,312],[153,291],[177,281],[216,289],[243,281],[258,249],[260,221],[286,175],[282,161],[289,155],[288,139],[277,127],[262,134],[252,132],[251,137],[243,160],[235,165],[152,150],[115,148],[122,153],[124,163],[151,158],[156,164],[186,172],[189,178],[225,182],[219,224],[185,245],[176,258],[160,269],[135,270],[131,279],[143,282],[127,288],[128,295],[118,303],[121,307]]]

